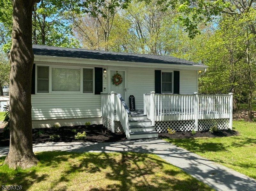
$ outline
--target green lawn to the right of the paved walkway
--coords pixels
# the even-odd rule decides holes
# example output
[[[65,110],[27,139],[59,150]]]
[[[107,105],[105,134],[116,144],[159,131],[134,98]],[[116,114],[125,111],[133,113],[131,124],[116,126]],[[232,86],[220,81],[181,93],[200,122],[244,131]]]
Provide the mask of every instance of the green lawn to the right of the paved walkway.
[[[240,136],[164,140],[256,179],[256,123],[233,121],[233,129]]]

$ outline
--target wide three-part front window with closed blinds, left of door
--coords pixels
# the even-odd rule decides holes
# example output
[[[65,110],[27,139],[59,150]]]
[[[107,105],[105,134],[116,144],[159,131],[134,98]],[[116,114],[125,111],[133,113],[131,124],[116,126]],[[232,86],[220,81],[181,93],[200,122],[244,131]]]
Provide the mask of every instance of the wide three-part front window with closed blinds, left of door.
[[[51,91],[49,91],[50,87]],[[92,68],[37,66],[37,93],[81,91],[83,93],[93,93]]]

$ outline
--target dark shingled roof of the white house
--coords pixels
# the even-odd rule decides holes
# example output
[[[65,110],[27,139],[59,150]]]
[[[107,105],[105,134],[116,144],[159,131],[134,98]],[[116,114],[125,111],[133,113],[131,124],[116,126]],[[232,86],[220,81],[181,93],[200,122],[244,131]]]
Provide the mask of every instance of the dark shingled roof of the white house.
[[[34,55],[59,56],[68,58],[86,58],[96,60],[124,61],[124,62],[144,62],[161,64],[179,64],[179,65],[200,65],[203,64],[175,58],[165,55],[145,55],[121,52],[107,52],[99,50],[86,50],[78,48],[62,48],[42,45],[33,45]]]

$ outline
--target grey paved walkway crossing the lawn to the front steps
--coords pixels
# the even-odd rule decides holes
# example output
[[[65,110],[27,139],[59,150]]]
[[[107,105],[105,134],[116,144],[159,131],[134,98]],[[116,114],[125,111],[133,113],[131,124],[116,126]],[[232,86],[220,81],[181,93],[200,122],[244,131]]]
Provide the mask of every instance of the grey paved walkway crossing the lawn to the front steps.
[[[9,147],[0,147],[0,156],[8,151]],[[41,143],[34,144],[33,151],[154,153],[215,190],[256,190],[254,179],[158,138],[116,143]]]

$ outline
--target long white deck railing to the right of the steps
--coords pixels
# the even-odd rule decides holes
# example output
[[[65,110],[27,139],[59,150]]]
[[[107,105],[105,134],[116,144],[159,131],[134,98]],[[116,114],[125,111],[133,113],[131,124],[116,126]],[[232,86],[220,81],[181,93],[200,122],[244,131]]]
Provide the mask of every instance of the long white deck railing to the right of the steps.
[[[175,94],[144,94],[144,114],[152,123],[155,121],[198,120],[229,118],[232,129],[232,99],[228,95],[175,95]]]

